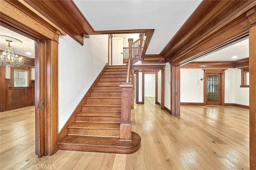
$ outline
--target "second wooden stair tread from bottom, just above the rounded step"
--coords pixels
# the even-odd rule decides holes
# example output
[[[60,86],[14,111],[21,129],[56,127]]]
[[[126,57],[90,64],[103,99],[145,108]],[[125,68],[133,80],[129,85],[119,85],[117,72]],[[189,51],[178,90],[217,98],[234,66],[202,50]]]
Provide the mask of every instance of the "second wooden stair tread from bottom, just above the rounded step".
[[[75,122],[69,125],[68,128],[79,129],[119,129],[119,122]]]

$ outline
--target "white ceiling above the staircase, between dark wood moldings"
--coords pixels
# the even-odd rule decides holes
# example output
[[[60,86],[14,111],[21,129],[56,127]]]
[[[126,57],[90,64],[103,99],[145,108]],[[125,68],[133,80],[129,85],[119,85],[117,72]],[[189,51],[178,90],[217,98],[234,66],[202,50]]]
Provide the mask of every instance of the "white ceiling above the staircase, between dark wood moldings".
[[[201,0],[74,0],[95,31],[155,29],[146,54],[159,54]]]

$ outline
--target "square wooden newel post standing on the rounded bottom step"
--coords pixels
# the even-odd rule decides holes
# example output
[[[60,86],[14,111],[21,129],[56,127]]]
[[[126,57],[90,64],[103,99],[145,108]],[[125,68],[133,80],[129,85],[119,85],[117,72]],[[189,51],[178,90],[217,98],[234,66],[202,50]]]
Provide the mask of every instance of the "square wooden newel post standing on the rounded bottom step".
[[[122,88],[121,124],[119,140],[132,141],[131,91],[133,85],[131,84],[131,82],[123,82],[119,86]]]

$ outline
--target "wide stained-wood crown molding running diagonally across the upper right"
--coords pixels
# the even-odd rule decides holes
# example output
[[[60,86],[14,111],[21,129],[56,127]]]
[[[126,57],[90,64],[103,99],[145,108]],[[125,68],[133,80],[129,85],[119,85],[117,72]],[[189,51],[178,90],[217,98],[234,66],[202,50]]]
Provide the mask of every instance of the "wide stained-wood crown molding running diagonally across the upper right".
[[[256,1],[202,1],[171,41],[161,51],[165,62],[180,65],[248,33],[255,23],[246,12]],[[250,12],[252,13],[252,12]],[[249,17],[248,16],[248,17]]]

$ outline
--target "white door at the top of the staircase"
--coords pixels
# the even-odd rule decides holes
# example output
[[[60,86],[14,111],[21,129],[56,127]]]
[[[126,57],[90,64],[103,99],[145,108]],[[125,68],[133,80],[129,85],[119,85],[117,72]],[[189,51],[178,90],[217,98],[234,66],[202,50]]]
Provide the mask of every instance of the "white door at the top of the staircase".
[[[124,65],[123,64],[123,38],[112,38],[112,65]]]

